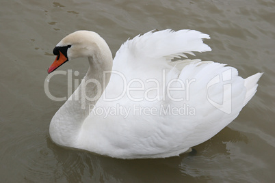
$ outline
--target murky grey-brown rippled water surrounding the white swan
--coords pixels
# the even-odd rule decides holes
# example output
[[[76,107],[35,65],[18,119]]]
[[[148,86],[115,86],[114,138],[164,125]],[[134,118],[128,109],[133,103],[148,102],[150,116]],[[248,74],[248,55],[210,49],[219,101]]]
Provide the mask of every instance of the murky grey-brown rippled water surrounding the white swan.
[[[273,182],[275,175],[275,2],[34,1],[1,0],[1,182]],[[47,98],[44,81],[64,36],[79,29],[99,33],[113,55],[128,38],[152,29],[207,33],[209,53],[198,58],[228,64],[247,77],[265,74],[237,119],[196,154],[153,160],[119,160],[70,150],[49,139],[49,123],[64,102]],[[79,71],[71,61],[60,70]],[[67,94],[67,76],[54,76],[51,94]]]

